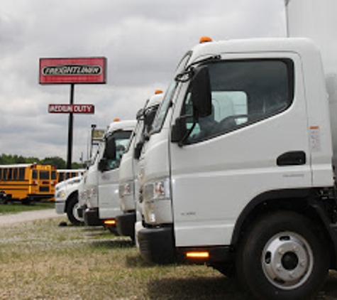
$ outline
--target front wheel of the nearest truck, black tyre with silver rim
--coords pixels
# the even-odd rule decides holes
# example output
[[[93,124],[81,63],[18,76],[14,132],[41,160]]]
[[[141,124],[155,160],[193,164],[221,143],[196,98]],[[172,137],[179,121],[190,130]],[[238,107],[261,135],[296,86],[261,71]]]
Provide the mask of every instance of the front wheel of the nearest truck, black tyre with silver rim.
[[[238,247],[236,274],[258,299],[309,299],[329,267],[326,240],[303,215],[277,212],[258,220]]]

